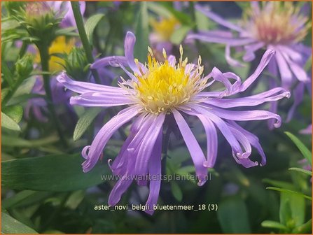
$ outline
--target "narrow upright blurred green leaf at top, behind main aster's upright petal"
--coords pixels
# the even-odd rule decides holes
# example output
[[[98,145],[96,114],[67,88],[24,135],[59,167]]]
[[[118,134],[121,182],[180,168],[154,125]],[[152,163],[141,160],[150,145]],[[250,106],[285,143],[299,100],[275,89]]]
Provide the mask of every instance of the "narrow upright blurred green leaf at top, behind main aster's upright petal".
[[[135,29],[135,35],[137,38],[134,45],[134,56],[139,59],[140,62],[146,61],[149,45],[149,23],[148,23],[148,10],[147,2],[141,1],[139,3],[139,14],[137,17],[137,24]]]

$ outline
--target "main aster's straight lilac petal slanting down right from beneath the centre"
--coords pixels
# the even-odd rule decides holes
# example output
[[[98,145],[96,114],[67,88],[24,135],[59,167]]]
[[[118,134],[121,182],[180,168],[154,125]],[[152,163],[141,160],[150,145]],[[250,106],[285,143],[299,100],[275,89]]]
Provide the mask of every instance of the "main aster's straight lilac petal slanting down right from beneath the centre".
[[[207,168],[204,167],[204,163],[206,162],[204,154],[200,148],[199,143],[197,143],[193,132],[188,127],[187,122],[183,119],[181,113],[179,113],[179,111],[173,110],[173,115],[179,130],[181,131],[183,140],[185,141],[190,152],[191,158],[193,159],[193,164],[195,164],[195,172],[199,180],[198,185],[202,186],[207,180]]]

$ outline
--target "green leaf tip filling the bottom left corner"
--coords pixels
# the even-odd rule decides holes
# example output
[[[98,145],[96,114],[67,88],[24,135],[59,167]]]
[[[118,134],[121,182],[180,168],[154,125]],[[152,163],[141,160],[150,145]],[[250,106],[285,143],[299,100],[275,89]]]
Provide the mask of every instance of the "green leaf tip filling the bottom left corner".
[[[7,213],[1,212],[1,233],[2,234],[37,234],[34,229],[27,227],[18,220],[15,220]]]

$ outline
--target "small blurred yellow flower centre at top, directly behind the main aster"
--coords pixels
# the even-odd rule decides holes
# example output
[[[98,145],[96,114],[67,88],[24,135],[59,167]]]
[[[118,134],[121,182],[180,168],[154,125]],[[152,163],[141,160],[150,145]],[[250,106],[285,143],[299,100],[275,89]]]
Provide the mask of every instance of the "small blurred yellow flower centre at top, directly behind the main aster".
[[[174,17],[168,19],[162,19],[160,21],[153,20],[151,26],[153,31],[160,36],[162,41],[169,41],[175,28],[179,25],[179,21]]]

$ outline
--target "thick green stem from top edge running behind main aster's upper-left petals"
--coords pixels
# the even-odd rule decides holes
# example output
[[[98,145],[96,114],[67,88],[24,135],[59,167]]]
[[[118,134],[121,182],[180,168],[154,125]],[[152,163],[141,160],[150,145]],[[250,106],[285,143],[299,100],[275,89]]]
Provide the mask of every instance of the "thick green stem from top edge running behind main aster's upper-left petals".
[[[76,26],[78,29],[78,34],[81,38],[81,43],[83,44],[83,48],[85,50],[88,63],[92,64],[94,62],[94,58],[92,56],[92,50],[91,50],[88,37],[85,31],[85,26],[83,23],[83,16],[81,15],[81,9],[79,8],[79,2],[71,1],[71,8],[73,9],[75,22],[76,22]],[[101,82],[100,82],[97,71],[95,69],[91,69],[91,73],[92,73],[92,76],[95,78],[96,82],[100,84]]]

